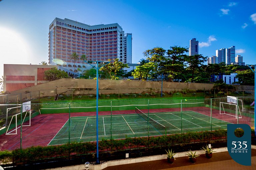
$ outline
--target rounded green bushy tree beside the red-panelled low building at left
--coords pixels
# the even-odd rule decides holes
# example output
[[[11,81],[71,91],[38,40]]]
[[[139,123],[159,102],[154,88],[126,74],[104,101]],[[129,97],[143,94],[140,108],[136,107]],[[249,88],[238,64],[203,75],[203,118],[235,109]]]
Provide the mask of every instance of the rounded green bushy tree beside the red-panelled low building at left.
[[[58,70],[56,67],[46,70],[44,72],[44,78],[48,81],[53,81],[61,78],[69,78],[68,74],[65,71]]]

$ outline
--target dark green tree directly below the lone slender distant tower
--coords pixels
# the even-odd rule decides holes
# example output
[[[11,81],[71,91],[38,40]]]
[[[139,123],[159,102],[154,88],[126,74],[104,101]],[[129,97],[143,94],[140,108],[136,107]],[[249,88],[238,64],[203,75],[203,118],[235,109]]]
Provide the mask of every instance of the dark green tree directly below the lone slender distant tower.
[[[186,70],[190,70],[192,72],[191,82],[194,82],[194,74],[204,65],[207,57],[204,57],[202,54],[196,54],[191,56],[185,55],[184,60],[188,65]]]

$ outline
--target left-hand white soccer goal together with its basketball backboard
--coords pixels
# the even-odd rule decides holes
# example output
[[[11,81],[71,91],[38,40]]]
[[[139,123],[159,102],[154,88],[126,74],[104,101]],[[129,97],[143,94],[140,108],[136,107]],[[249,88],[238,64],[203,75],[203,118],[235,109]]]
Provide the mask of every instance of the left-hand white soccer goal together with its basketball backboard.
[[[22,104],[22,111],[20,113],[12,114],[15,111],[21,111],[21,106],[7,108],[6,110],[6,135],[8,134],[17,134],[18,128],[31,126],[31,106],[30,102],[25,102]],[[9,117],[12,115],[11,120],[8,121]]]

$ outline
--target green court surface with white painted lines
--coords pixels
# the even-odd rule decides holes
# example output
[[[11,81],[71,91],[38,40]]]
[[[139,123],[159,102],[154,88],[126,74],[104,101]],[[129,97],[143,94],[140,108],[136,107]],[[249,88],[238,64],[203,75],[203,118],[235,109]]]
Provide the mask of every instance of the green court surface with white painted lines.
[[[149,113],[149,117],[148,122],[139,114],[99,116],[99,140],[216,130],[230,124],[194,111]],[[71,117],[48,145],[86,141],[96,141],[96,116]]]

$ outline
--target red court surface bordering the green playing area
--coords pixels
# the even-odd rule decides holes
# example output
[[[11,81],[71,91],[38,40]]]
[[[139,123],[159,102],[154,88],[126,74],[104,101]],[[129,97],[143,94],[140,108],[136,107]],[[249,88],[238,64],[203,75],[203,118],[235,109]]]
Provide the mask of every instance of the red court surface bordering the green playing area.
[[[144,110],[142,110],[144,112]],[[180,112],[180,108],[170,109],[150,109],[150,113],[156,112]],[[191,107],[182,108],[182,111],[193,111],[200,114],[210,116],[210,108],[207,107]],[[112,114],[134,114],[135,111],[113,111]],[[147,110],[145,110],[147,113]],[[111,112],[99,112],[100,115],[110,115]],[[71,113],[71,117],[76,116],[95,116],[95,112],[88,113]],[[212,109],[212,117],[219,120],[223,120],[229,123],[237,124],[237,119],[228,115],[220,115],[219,110]],[[17,134],[0,135],[0,151],[1,150],[13,150],[16,148],[27,148],[31,146],[47,146],[49,142],[54,138],[58,131],[68,121],[69,113],[61,114],[41,114],[31,119],[31,126],[22,127],[22,143],[20,136],[20,128],[17,130]],[[253,123],[252,118],[244,117],[239,119],[239,123],[250,124]]]

